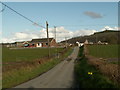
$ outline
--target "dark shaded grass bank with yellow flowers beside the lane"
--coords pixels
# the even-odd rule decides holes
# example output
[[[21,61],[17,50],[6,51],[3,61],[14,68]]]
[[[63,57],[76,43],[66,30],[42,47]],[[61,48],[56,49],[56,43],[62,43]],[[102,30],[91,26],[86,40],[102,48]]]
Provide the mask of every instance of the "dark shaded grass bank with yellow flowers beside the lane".
[[[75,75],[80,88],[116,88],[106,76],[100,73],[93,65],[88,64],[83,54],[84,48],[80,48],[78,57],[81,59],[75,64]]]

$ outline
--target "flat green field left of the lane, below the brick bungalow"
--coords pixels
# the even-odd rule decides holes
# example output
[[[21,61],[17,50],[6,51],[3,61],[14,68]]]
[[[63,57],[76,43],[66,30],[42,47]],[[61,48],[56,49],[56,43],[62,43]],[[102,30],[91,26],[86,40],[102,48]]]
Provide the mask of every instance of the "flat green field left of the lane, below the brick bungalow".
[[[58,52],[63,48],[58,48]],[[50,48],[50,54],[56,53],[56,48]],[[2,48],[2,61],[3,62],[16,62],[16,61],[31,61],[48,56],[48,48],[31,48],[31,49],[9,49]]]

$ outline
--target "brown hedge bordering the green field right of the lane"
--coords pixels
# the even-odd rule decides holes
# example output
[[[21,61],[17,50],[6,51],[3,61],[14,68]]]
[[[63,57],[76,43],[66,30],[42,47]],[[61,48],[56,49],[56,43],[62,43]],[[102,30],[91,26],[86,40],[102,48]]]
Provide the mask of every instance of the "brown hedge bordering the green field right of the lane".
[[[119,65],[107,62],[107,58],[98,58],[98,57],[89,55],[87,46],[85,46],[84,49],[85,49],[84,50],[85,57],[88,59],[88,63],[90,65],[95,66],[97,69],[100,70],[100,72],[103,75],[107,76],[110,80],[112,80],[114,82],[114,84],[116,84],[118,87],[120,87]],[[120,59],[118,58],[118,61],[119,60]]]

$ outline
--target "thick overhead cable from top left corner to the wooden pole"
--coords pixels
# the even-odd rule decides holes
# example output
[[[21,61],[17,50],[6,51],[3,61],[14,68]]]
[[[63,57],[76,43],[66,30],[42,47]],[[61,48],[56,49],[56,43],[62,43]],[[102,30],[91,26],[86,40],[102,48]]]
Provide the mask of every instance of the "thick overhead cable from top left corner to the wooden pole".
[[[12,9],[11,7],[9,7],[8,5],[4,4],[3,2],[0,1],[0,3],[2,5],[4,5],[5,7],[9,8],[10,10],[12,10],[13,12],[17,13],[18,15],[20,15],[21,17],[25,18],[26,20],[30,21],[31,23],[33,23],[34,25],[37,25],[39,27],[45,28],[44,26],[41,26],[37,23],[35,23],[34,21],[32,21],[31,19],[27,18],[26,16],[22,15],[21,13],[17,12],[16,10]]]

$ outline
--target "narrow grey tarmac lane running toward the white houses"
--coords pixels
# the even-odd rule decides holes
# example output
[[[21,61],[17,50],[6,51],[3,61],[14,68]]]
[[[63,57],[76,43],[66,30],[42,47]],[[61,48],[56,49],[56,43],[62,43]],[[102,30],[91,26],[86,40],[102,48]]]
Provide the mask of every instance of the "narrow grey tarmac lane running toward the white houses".
[[[14,88],[72,88],[74,85],[74,60],[77,58],[79,47],[72,54],[48,72],[20,84]]]

